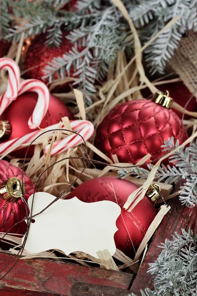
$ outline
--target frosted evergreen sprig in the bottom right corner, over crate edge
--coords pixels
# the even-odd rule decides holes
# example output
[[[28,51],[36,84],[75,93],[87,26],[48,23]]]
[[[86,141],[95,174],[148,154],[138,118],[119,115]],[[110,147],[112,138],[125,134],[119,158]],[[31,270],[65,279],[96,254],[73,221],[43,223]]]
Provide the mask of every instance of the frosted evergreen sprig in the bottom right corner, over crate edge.
[[[175,233],[160,246],[162,252],[150,263],[154,291],[141,291],[142,296],[197,296],[197,235],[193,231]],[[132,296],[135,296],[132,294]]]

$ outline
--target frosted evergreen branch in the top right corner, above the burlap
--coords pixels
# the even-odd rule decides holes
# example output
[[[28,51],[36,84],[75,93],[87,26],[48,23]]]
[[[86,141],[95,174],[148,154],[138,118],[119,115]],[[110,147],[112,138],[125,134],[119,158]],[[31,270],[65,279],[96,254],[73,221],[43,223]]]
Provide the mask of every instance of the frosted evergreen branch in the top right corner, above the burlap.
[[[170,21],[179,19],[155,39],[145,51],[151,72],[164,73],[166,62],[174,55],[188,30],[197,30],[197,0],[142,0],[130,12],[137,28],[147,25],[141,39],[146,42]]]

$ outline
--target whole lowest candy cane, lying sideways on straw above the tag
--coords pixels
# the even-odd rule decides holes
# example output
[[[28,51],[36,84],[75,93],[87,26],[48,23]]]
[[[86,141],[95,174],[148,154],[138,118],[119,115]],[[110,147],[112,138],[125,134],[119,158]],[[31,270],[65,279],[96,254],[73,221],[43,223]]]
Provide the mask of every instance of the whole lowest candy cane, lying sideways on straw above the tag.
[[[87,120],[72,120],[70,121],[70,126],[74,132],[79,133],[85,141],[87,141],[94,133],[94,126],[90,121]],[[41,135],[44,131],[50,131],[53,129],[64,129],[65,125],[62,124],[61,127],[59,127],[59,124],[53,124],[48,126],[47,128],[43,129],[42,131],[37,130],[32,133],[29,133],[23,137],[16,138],[10,141],[7,141],[5,143],[0,144],[0,156],[9,153],[13,150],[18,150],[22,147],[28,146],[37,136]],[[55,133],[55,131],[49,132],[49,136],[52,136]],[[63,134],[64,131],[63,131]],[[83,143],[83,139],[76,134],[72,134],[67,136],[65,139],[60,140],[58,142],[55,142],[52,148],[51,156],[56,155],[58,153],[66,151],[68,148],[76,147],[77,145]],[[33,145],[38,143],[33,143]],[[48,151],[50,145],[47,145],[44,149],[45,153]]]

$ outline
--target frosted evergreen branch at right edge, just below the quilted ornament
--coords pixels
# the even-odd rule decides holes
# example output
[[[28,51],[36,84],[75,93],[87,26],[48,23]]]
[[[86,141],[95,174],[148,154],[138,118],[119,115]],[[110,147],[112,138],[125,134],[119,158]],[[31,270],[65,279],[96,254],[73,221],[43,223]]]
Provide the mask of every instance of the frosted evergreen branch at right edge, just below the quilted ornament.
[[[179,142],[174,143],[173,137],[164,142],[164,151],[169,151],[172,148],[179,146]],[[164,182],[165,184],[177,184],[183,180],[180,186],[179,199],[183,205],[194,207],[197,205],[197,142],[191,147],[180,148],[175,154],[169,157],[167,166],[163,164],[159,166],[155,181]],[[132,175],[136,178],[147,179],[153,165],[147,165],[147,169],[140,167],[132,167],[123,169],[118,172],[122,179]]]

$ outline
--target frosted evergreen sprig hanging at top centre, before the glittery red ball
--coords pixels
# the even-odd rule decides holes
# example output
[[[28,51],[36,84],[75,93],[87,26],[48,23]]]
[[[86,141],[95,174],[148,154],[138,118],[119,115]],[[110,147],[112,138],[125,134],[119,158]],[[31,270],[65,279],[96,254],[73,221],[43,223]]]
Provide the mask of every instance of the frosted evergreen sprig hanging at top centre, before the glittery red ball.
[[[74,29],[67,38],[75,47],[62,58],[54,58],[44,70],[44,77],[52,81],[55,74],[64,78],[73,68],[73,76],[77,77],[74,85],[79,85],[78,88],[83,91],[87,105],[91,105],[91,97],[96,92],[95,80],[103,79],[107,65],[116,58],[118,50],[127,45],[126,35],[124,32],[120,34],[118,23],[111,17],[115,10],[115,7],[108,7],[96,11],[91,28]],[[82,51],[78,50],[79,47],[82,47]]]

